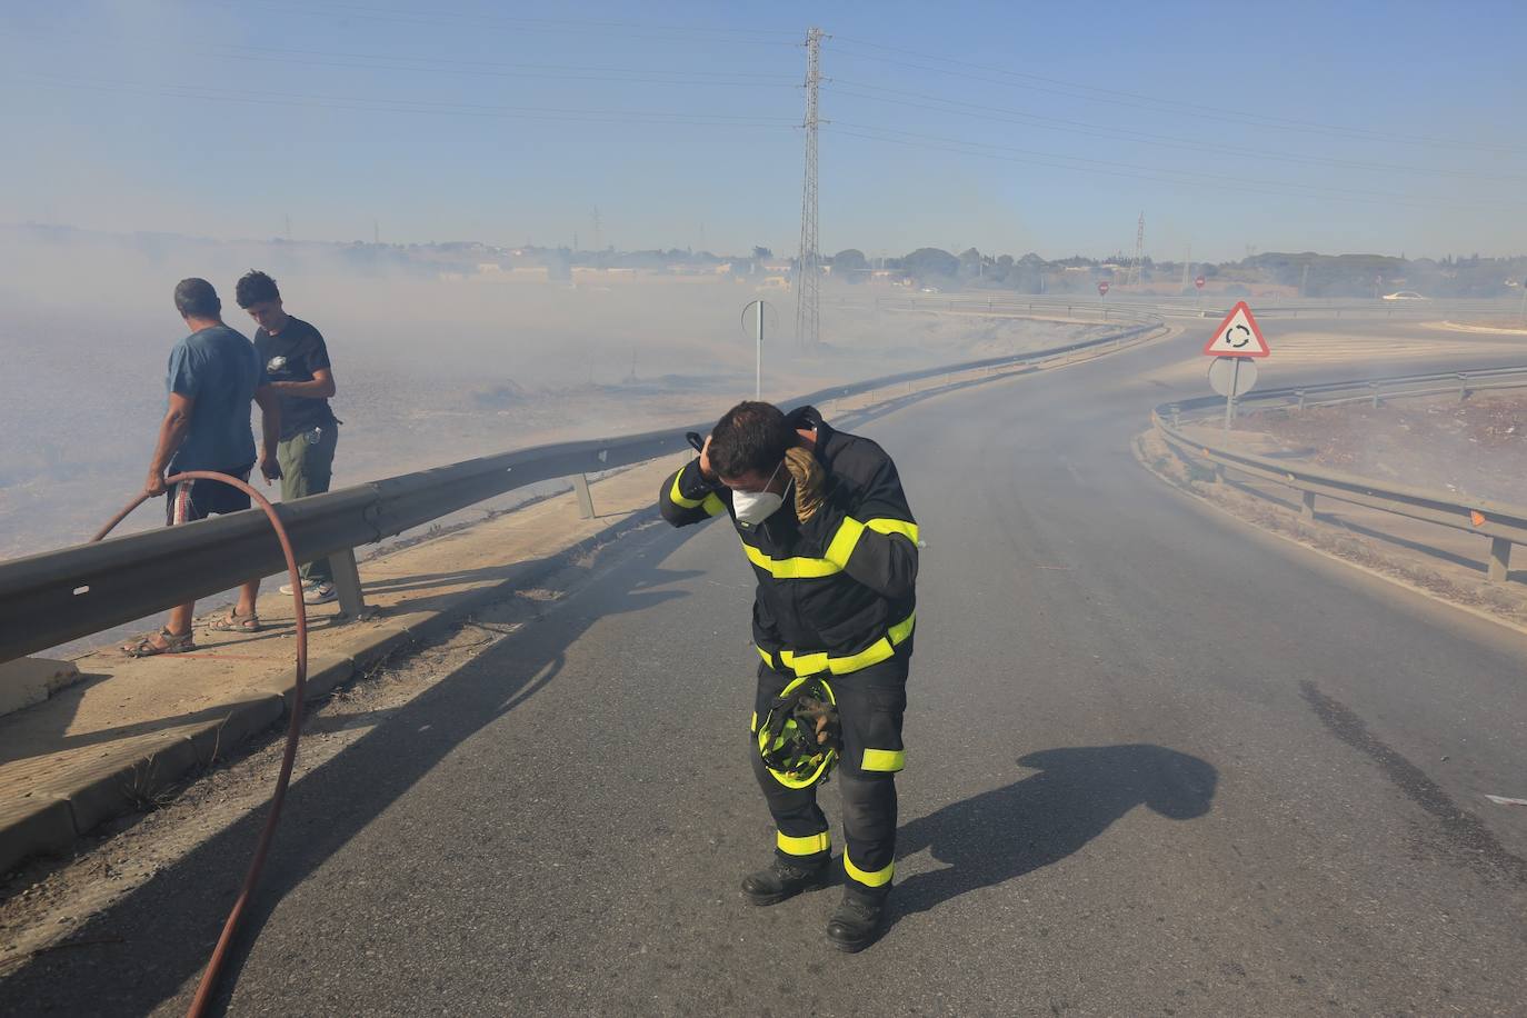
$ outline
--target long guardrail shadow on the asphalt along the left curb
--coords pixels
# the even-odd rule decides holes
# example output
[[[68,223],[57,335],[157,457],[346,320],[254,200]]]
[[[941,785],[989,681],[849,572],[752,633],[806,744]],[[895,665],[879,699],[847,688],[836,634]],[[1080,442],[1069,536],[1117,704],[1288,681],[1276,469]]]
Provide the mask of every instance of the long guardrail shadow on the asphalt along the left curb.
[[[672,548],[690,536],[654,530],[628,542]],[[597,583],[597,612],[568,610],[554,627],[527,626],[507,636],[472,667],[443,679],[397,710],[388,723],[292,784],[281,830],[229,957],[215,1010],[228,1006],[250,945],[282,896],[457,746],[553,684],[562,672],[565,649],[588,626],[684,597],[673,585],[693,574],[629,556],[628,542],[592,552],[563,578],[577,594]],[[0,974],[0,1001],[5,1001],[0,1013],[140,1015],[176,998],[180,1001],[171,1009],[183,1006],[217,942],[264,817],[266,809],[244,815],[61,945]]]

